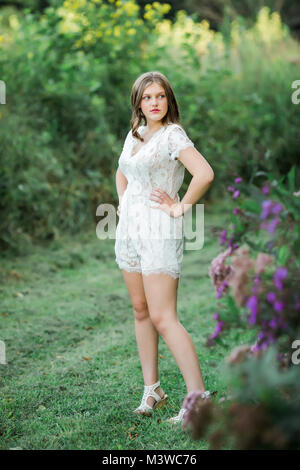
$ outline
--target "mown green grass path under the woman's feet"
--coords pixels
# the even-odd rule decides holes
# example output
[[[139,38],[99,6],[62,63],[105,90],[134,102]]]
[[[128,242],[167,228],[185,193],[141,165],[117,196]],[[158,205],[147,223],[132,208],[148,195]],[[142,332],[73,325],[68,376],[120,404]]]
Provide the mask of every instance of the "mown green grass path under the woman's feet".
[[[248,341],[234,330],[207,348],[214,331],[215,292],[208,267],[219,252],[216,228],[228,224],[221,206],[205,205],[205,243],[185,251],[178,317],[191,335],[206,388],[226,394],[224,358]],[[178,413],[186,387],[174,357],[159,337],[159,378],[169,403],[153,417],[136,416],[143,376],[134,319],[114,240],[95,231],[37,246],[1,265],[0,365],[2,449],[208,449],[181,426],[164,420]]]

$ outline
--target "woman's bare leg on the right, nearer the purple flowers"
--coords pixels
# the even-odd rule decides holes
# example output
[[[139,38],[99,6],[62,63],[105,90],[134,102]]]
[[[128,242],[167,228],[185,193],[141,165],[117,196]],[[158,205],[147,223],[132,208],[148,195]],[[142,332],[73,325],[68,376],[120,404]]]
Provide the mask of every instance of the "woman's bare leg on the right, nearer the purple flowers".
[[[192,340],[177,318],[179,279],[168,274],[143,276],[145,296],[153,325],[163,337],[186,383],[187,393],[205,391],[198,356]]]

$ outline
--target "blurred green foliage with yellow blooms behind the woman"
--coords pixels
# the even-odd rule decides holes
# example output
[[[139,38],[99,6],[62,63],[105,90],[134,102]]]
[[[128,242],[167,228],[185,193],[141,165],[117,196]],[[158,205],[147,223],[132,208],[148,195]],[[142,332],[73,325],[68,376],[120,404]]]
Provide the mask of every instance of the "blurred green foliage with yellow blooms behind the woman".
[[[283,57],[299,46],[280,17],[263,9],[251,28],[233,21],[225,40],[184,11],[165,20],[169,10],[66,0],[41,15],[0,16],[2,248],[73,233],[115,200],[131,86],[146,70],[169,78],[182,123],[215,171],[211,196],[222,197],[234,172],[285,176],[297,162],[299,67]]]

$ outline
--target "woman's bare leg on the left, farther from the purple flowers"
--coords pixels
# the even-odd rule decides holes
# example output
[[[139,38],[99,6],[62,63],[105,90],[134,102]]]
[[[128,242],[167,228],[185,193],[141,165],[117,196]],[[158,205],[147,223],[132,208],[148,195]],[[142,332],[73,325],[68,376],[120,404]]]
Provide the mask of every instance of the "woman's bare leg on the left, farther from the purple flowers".
[[[152,385],[158,381],[158,332],[149,316],[142,274],[128,273],[125,270],[122,272],[134,311],[135,336],[144,383]],[[161,387],[157,387],[155,391],[161,397],[164,395]],[[155,403],[154,398],[148,397],[147,403],[152,406]]]

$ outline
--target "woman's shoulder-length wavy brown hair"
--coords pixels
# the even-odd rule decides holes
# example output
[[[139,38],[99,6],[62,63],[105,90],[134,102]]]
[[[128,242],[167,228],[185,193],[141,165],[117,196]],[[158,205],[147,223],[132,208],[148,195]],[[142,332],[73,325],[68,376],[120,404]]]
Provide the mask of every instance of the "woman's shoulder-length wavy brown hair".
[[[130,125],[131,125],[132,135],[133,137],[136,137],[142,142],[144,142],[144,139],[138,133],[137,130],[139,126],[142,125],[141,124],[142,121],[144,121],[144,124],[146,125],[147,120],[145,118],[143,111],[139,108],[139,106],[140,106],[145,88],[148,85],[151,85],[152,83],[158,83],[159,85],[163,87],[166,93],[167,101],[168,101],[168,111],[162,119],[162,124],[163,125],[166,125],[169,123],[180,124],[178,104],[177,104],[175,95],[173,93],[173,90],[171,88],[171,85],[167,77],[165,77],[165,75],[163,75],[162,73],[158,71],[143,73],[134,82],[132,86],[131,97],[130,97],[131,108],[132,108],[132,117],[130,120]]]

